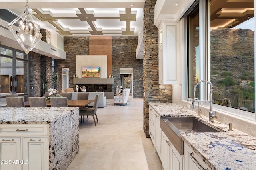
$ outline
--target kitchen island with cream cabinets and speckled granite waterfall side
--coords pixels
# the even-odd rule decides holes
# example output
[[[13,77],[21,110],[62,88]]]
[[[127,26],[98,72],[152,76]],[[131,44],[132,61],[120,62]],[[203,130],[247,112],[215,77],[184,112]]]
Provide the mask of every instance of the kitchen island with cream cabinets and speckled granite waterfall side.
[[[1,108],[0,170],[64,170],[79,152],[79,108]]]

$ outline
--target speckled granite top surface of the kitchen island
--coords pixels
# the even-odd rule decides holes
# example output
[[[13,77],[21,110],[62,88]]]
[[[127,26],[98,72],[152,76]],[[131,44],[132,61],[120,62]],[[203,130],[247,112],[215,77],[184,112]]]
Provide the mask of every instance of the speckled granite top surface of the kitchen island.
[[[0,108],[0,124],[49,124],[78,107]]]

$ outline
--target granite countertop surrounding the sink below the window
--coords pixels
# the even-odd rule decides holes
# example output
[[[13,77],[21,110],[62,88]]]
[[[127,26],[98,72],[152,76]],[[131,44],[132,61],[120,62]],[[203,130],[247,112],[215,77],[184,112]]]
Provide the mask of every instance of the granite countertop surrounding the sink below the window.
[[[214,129],[225,132],[180,133],[180,137],[212,170],[256,170],[256,138],[228,125],[173,103],[148,103],[161,117],[195,117]]]

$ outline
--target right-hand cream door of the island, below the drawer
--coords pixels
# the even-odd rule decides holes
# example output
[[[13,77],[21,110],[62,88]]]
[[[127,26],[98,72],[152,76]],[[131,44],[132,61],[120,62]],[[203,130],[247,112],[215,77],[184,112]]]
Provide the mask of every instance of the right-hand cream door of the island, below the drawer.
[[[24,137],[23,138],[23,170],[48,170],[48,138]]]

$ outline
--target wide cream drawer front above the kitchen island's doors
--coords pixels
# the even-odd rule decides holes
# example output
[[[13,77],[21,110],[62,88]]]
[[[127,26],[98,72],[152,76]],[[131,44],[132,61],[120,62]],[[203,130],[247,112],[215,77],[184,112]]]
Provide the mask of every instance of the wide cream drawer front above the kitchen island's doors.
[[[1,135],[48,135],[48,125],[0,125]]]

